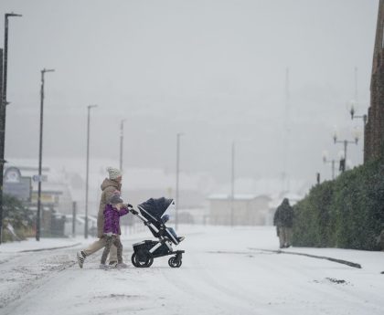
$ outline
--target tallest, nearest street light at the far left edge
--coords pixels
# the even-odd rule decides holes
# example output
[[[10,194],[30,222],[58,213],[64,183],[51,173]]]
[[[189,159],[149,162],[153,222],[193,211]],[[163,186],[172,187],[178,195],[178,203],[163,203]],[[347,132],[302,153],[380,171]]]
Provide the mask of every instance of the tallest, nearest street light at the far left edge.
[[[5,35],[4,35],[4,55],[0,53],[0,244],[3,235],[3,174],[4,174],[4,149],[5,149],[5,108],[6,101],[6,79],[8,74],[8,17],[21,16],[15,13],[5,14]]]

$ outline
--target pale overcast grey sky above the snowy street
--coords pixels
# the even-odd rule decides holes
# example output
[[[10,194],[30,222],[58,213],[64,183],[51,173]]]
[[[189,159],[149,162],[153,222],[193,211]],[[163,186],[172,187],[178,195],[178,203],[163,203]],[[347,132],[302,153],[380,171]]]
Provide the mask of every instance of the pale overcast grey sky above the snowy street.
[[[85,158],[86,107],[96,103],[91,156],[116,166],[126,119],[124,167],[173,171],[182,131],[185,171],[229,180],[236,140],[239,176],[280,176],[287,156],[290,177],[329,177],[321,153],[342,149],[335,126],[350,138],[362,125],[346,106],[355,67],[358,110],[368,108],[378,3],[2,0],[2,19],[23,15],[10,20],[5,157],[37,158],[40,69],[55,68],[46,78],[45,156]],[[348,154],[361,163],[361,143]]]

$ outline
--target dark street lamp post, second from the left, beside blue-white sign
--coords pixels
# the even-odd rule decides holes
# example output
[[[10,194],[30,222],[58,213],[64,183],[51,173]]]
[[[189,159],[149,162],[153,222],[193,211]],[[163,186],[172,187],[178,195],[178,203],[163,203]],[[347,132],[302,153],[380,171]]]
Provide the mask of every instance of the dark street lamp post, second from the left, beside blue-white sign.
[[[40,132],[38,145],[38,188],[37,188],[37,218],[36,218],[36,240],[40,240],[40,217],[41,217],[41,166],[43,159],[43,111],[44,111],[44,75],[46,72],[54,72],[54,69],[43,68],[41,70],[41,89],[40,89]]]

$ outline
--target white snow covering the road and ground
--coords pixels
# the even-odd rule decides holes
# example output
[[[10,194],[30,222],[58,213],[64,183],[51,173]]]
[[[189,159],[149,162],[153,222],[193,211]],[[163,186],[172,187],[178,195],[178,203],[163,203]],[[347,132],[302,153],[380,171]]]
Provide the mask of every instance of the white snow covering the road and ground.
[[[183,233],[182,233],[183,232]],[[167,257],[151,268],[99,269],[101,252],[75,264],[77,247],[19,252],[0,246],[0,314],[369,314],[384,313],[384,253],[289,248],[350,260],[351,268],[278,249],[270,226],[180,226],[181,268]],[[124,259],[149,231],[123,236]],[[44,240],[45,242],[46,240]],[[78,239],[48,240],[66,246]],[[33,242],[32,242],[33,243]],[[25,250],[21,243],[15,244]],[[33,249],[26,242],[26,247]],[[41,245],[38,245],[41,249]]]

